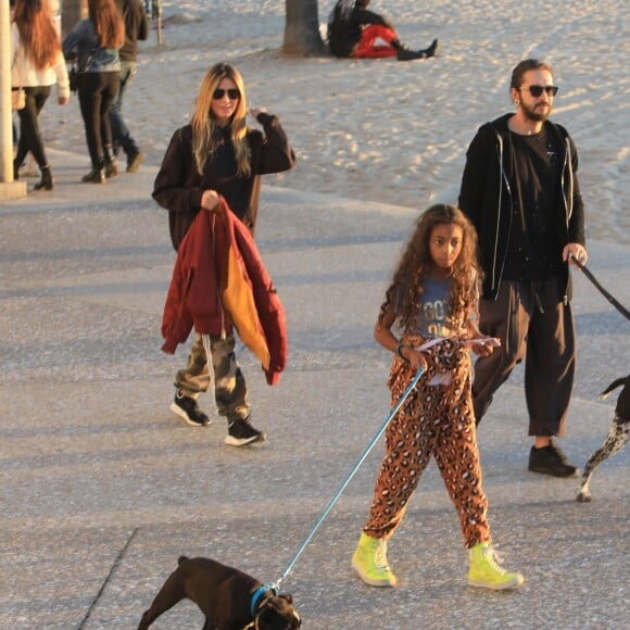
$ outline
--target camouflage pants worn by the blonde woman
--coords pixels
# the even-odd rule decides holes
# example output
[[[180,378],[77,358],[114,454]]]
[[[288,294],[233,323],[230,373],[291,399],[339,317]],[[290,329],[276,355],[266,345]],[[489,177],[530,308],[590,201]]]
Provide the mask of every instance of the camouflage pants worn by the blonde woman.
[[[212,355],[212,374],[206,360],[201,335],[196,335],[188,357],[188,365],[175,375],[175,387],[186,396],[197,399],[210,389],[214,381],[214,399],[219,415],[228,419],[247,418],[250,415],[248,388],[236,360],[235,337],[228,335],[209,337]]]

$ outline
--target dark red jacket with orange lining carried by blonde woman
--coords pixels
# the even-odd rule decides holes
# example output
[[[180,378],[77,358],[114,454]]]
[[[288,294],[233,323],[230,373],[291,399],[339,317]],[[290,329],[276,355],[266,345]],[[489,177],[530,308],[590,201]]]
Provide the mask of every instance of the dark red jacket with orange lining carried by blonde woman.
[[[285,310],[249,230],[222,198],[220,212],[201,211],[177,250],[164,305],[162,350],[190,331],[222,336],[236,328],[276,385],[287,365]]]

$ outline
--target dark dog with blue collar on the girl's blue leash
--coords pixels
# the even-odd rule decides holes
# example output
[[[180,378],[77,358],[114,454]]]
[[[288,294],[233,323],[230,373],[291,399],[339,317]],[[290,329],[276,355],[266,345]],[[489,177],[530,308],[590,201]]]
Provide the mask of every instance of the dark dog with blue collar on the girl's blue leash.
[[[181,556],[138,630],[149,628],[185,597],[205,615],[203,630],[298,630],[302,621],[291,595],[276,595],[256,579],[216,560]]]

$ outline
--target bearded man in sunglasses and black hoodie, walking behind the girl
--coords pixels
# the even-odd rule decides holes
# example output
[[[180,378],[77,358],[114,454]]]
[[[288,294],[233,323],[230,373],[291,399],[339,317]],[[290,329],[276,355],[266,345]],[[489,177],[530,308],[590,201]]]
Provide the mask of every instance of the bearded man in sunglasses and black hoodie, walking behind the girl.
[[[459,205],[479,232],[480,328],[503,340],[475,365],[477,423],[525,358],[529,469],[574,477],[578,469],[552,437],[564,433],[576,367],[568,263],[588,254],[578,153],[567,130],[547,119],[557,90],[546,63],[528,59],[514,68],[516,113],[487,123],[470,142]]]

